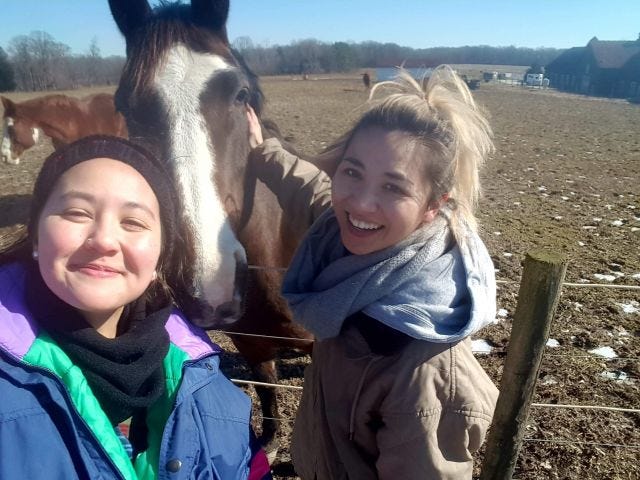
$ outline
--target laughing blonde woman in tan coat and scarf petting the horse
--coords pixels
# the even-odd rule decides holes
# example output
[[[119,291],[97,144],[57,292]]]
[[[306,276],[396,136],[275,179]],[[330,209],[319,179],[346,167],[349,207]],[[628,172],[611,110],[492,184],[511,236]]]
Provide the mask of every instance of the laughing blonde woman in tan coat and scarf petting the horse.
[[[314,165],[262,142],[258,176],[309,228],[282,291],[316,336],[291,455],[304,480],[470,479],[497,389],[469,336],[495,318],[476,233],[491,129],[448,67],[406,73]]]

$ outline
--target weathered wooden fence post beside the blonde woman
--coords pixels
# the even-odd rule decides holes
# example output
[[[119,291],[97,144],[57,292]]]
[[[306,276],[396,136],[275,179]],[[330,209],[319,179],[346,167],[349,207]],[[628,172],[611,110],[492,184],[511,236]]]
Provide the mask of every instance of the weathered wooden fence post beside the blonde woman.
[[[513,475],[566,270],[567,260],[558,253],[538,250],[525,257],[481,480],[509,480]]]

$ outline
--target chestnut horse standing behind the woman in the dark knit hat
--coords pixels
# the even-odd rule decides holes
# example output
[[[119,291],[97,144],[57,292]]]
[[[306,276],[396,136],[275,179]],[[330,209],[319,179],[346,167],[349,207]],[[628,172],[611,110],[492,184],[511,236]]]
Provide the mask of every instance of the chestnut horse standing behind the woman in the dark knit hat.
[[[116,112],[113,95],[108,93],[80,99],[46,95],[20,103],[0,98],[4,107],[2,157],[13,165],[18,165],[20,155],[38,142],[40,130],[56,149],[96,133],[127,136],[124,118]]]

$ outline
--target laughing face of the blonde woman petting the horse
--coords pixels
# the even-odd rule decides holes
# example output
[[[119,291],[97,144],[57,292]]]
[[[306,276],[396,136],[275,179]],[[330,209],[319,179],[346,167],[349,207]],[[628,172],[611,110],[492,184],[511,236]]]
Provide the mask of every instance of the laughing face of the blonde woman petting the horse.
[[[438,214],[424,179],[428,151],[399,131],[358,131],[332,179],[342,242],[356,255],[395,245]]]

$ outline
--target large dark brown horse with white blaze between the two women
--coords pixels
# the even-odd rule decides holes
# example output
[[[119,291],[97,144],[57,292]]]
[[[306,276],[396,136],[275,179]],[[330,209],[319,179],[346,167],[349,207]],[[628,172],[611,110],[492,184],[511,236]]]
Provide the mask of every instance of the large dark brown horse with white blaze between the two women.
[[[293,229],[247,167],[246,105],[260,115],[263,96],[256,75],[229,47],[229,2],[192,0],[155,10],[147,0],[109,4],[127,44],[116,106],[131,139],[167,162],[193,232],[187,252],[195,259],[193,301],[185,310],[204,328],[226,324],[230,333],[287,337],[231,335],[254,377],[275,383],[280,349],[311,348],[311,335],[292,322],[280,296],[282,267],[304,232]],[[248,264],[267,268],[250,270],[247,281]],[[261,440],[273,457],[275,392],[256,391],[265,417]]]

